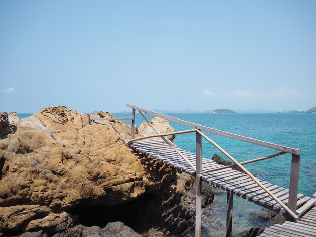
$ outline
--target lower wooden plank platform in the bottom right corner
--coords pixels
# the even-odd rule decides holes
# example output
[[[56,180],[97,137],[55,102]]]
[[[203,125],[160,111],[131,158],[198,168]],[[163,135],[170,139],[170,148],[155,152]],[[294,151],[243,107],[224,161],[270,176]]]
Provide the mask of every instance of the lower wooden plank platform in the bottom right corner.
[[[316,207],[306,212],[297,222],[286,221],[284,224],[275,224],[265,229],[259,236],[304,236],[316,237]]]

